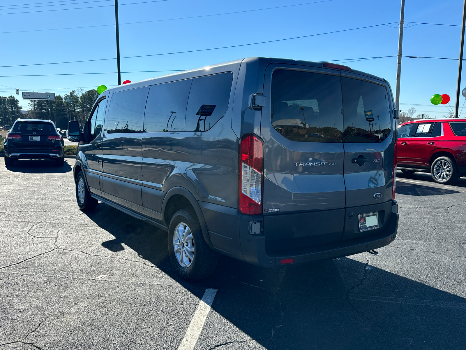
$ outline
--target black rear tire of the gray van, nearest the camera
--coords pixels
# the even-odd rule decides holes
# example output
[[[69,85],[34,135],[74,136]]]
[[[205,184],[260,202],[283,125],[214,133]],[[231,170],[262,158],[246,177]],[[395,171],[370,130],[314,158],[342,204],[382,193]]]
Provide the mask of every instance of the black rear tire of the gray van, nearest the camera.
[[[183,266],[175,253],[175,241],[173,236],[176,235],[175,229],[178,227],[180,231],[188,233],[187,229],[183,226],[189,227],[192,235],[192,240],[188,238],[187,244],[183,245],[184,248],[192,249],[192,259],[189,257],[191,251],[184,250],[181,243],[177,252],[179,252],[181,259],[188,262],[188,266]],[[184,233],[183,233],[184,236]],[[189,237],[188,234],[186,237]],[[178,242],[179,239],[178,239]],[[182,242],[184,244],[184,242]],[[170,255],[171,264],[175,271],[184,279],[195,281],[202,280],[210,276],[217,266],[217,259],[219,254],[214,252],[204,240],[202,230],[199,225],[198,218],[192,210],[181,209],[178,210],[170,220],[168,227],[168,253]]]

